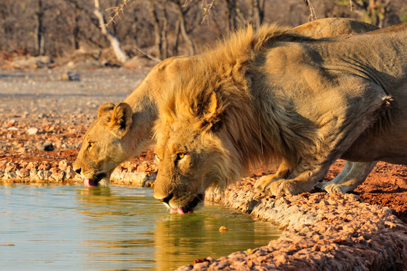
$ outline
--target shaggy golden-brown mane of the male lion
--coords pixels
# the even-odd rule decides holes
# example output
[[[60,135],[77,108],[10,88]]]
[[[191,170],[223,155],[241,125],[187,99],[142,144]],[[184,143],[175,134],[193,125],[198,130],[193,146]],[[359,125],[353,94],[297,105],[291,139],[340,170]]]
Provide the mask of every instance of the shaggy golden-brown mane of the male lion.
[[[187,121],[212,141],[216,139],[227,160],[214,161],[228,164],[219,168],[230,168],[228,173],[222,170],[224,178],[217,179],[221,187],[259,162],[297,164],[304,154],[317,151],[321,134],[315,123],[290,110],[292,105],[284,93],[276,92],[275,99],[261,101],[262,92],[268,92],[270,86],[259,78],[257,69],[268,49],[304,40],[314,41],[275,24],[256,32],[248,27],[195,56],[190,68],[180,71],[163,95],[165,106],[160,107],[161,124],[155,127],[156,132],[175,121]]]

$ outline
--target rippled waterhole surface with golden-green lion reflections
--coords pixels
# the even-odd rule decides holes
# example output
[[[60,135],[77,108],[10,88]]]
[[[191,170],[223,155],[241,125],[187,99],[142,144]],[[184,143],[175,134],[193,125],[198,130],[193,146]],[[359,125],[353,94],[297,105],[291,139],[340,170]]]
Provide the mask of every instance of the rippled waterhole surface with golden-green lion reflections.
[[[0,184],[0,217],[0,270],[173,270],[281,234],[219,205],[169,214],[131,186]]]

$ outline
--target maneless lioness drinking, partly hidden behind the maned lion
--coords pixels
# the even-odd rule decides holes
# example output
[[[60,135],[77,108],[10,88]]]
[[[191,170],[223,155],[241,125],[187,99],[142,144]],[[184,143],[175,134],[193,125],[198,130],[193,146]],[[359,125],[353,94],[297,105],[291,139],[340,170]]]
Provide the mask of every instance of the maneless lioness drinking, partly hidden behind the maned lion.
[[[376,29],[376,26],[361,21],[328,18],[292,30],[313,37],[332,37]],[[111,172],[119,163],[135,157],[153,142],[151,130],[158,116],[157,99],[161,99],[161,93],[177,78],[180,70],[189,68],[191,59],[172,57],[162,61],[123,103],[117,106],[105,103],[99,108],[98,118],[83,137],[74,163],[74,169],[81,174],[85,185],[107,186]],[[365,163],[356,163],[353,172],[364,172],[366,166]]]

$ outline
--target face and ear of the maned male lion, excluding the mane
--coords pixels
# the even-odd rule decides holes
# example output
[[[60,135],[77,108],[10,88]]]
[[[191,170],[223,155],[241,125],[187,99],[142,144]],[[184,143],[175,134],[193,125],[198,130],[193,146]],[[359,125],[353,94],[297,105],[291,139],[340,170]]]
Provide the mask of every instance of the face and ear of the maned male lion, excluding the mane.
[[[201,112],[193,112],[201,115],[202,120],[196,119],[191,126],[183,121],[161,121],[156,127],[159,174],[154,196],[170,212],[192,212],[203,202],[208,187],[226,185],[226,179],[237,176],[234,170],[239,171],[230,166],[235,157],[213,134],[217,129],[216,120],[212,119],[217,114],[213,95],[212,103],[206,108],[195,108]]]

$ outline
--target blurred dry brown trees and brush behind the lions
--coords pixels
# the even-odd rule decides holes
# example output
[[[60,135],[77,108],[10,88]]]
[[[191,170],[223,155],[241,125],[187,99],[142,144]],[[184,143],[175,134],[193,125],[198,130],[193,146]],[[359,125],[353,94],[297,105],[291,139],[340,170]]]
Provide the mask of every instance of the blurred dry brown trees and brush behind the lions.
[[[69,57],[106,48],[118,63],[195,54],[248,23],[298,26],[348,17],[386,27],[407,21],[407,0],[0,0],[0,57]],[[115,45],[116,44],[116,45]]]

